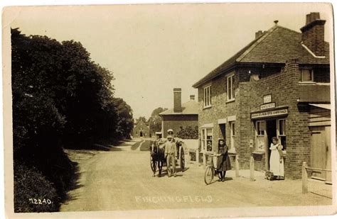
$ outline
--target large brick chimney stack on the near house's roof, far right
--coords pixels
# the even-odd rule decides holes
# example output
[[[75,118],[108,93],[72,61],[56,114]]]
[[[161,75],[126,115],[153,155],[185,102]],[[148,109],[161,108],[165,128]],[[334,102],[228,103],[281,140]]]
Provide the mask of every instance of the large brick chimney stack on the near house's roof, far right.
[[[314,55],[324,56],[324,24],[319,12],[311,12],[306,15],[306,25],[301,28],[302,42],[314,52]]]

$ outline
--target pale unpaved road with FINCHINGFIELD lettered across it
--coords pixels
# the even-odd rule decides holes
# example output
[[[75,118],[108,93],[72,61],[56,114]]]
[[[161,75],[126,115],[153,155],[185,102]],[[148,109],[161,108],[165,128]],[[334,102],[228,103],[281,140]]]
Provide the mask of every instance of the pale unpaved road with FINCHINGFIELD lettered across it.
[[[197,164],[187,164],[185,172],[179,169],[176,178],[152,177],[149,151],[143,151],[148,143],[124,142],[107,152],[68,151],[79,164],[79,178],[60,211],[315,206],[332,201],[331,186],[324,185],[319,195],[302,194],[299,180],[267,181],[257,176],[250,181],[235,178],[234,171],[228,172],[225,182],[206,186],[204,169]]]

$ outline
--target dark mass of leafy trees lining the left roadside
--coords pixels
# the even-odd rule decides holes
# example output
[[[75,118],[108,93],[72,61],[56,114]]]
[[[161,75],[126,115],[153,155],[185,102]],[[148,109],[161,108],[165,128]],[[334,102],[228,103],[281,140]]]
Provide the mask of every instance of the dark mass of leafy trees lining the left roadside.
[[[132,109],[114,98],[112,72],[81,43],[12,29],[11,49],[14,161],[36,169],[62,197],[73,174],[63,147],[129,137]]]

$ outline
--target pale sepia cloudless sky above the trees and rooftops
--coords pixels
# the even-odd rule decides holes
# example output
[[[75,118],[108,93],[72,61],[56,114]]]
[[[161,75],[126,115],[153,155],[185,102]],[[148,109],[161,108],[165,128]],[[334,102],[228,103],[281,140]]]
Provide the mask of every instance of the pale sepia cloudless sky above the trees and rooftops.
[[[132,107],[134,118],[159,106],[173,107],[173,88],[182,101],[197,96],[192,85],[268,30],[278,20],[300,32],[310,12],[326,19],[328,4],[157,4],[21,7],[5,13],[4,25],[26,35],[75,40],[92,60],[114,74],[115,96]]]

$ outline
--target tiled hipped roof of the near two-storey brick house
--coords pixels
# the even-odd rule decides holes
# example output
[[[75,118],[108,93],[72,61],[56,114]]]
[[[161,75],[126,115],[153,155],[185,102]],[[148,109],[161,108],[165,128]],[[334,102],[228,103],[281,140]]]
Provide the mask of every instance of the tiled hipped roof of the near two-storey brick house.
[[[200,79],[194,88],[227,73],[238,64],[284,64],[287,60],[298,58],[299,64],[329,64],[329,47],[325,42],[325,57],[317,58],[301,44],[301,33],[282,26],[273,26],[260,38],[242,48],[219,67]]]

